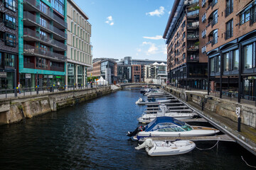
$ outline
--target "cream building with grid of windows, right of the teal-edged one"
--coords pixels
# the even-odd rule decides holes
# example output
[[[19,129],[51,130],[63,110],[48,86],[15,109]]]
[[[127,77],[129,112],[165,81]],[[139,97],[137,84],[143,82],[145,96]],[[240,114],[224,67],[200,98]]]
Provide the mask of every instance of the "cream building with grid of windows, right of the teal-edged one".
[[[92,26],[88,16],[73,0],[68,0],[68,50],[66,85],[86,84],[87,68],[92,67]]]

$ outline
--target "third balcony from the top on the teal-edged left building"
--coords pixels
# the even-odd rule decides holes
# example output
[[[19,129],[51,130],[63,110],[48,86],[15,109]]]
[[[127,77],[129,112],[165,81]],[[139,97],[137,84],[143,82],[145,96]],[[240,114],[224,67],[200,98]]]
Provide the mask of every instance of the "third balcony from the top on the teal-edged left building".
[[[36,38],[37,40],[46,42],[47,44],[53,45],[55,47],[58,47],[61,50],[67,50],[67,45],[65,45],[64,43],[59,42],[58,40],[54,40],[53,38],[40,35],[40,33],[36,32],[36,30],[31,30],[30,28],[24,28],[23,34]]]

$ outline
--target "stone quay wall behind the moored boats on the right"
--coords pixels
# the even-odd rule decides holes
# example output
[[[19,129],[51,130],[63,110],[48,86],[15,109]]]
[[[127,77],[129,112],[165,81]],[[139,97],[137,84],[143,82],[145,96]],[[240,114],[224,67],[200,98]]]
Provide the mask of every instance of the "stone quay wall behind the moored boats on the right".
[[[226,118],[230,118],[234,122],[238,122],[238,115],[236,115],[236,108],[240,108],[241,123],[249,125],[252,128],[256,128],[256,107],[246,104],[236,103],[234,101],[228,101],[222,98],[215,98],[208,96],[205,92],[198,91],[186,91],[183,89],[176,89],[173,87],[165,86],[164,89],[174,96],[181,98],[183,101],[192,101],[198,106],[212,111],[218,115]]]

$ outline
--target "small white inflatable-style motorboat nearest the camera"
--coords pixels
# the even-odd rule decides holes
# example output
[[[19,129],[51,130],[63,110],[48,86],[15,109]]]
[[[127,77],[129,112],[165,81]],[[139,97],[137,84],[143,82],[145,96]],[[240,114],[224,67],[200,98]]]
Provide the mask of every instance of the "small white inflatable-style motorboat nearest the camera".
[[[135,149],[146,148],[149,156],[170,156],[177,154],[186,154],[196,147],[196,144],[190,140],[178,140],[176,142],[153,141],[146,139],[142,145]]]

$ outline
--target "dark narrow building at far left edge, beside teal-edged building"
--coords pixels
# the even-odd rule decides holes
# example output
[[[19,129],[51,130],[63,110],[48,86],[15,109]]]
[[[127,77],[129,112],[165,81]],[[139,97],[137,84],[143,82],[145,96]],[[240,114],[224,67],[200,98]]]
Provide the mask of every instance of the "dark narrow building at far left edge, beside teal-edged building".
[[[0,90],[14,89],[18,57],[18,1],[0,1]]]

